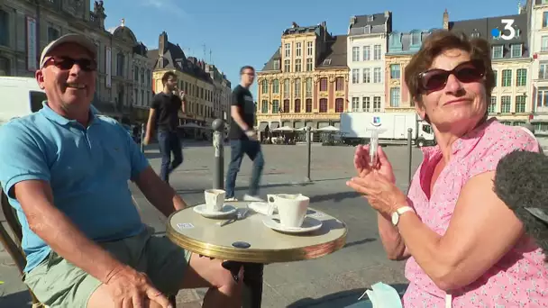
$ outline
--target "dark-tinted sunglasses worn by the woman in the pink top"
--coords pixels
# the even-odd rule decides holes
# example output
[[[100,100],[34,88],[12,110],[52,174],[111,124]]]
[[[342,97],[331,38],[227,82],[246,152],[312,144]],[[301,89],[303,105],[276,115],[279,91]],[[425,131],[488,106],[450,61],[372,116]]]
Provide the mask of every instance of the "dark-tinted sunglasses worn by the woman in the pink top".
[[[447,79],[453,75],[462,83],[477,82],[485,76],[485,66],[481,60],[462,62],[452,70],[429,69],[418,75],[419,87],[425,92],[438,91],[447,85]]]

